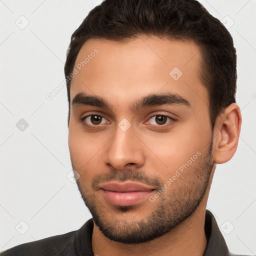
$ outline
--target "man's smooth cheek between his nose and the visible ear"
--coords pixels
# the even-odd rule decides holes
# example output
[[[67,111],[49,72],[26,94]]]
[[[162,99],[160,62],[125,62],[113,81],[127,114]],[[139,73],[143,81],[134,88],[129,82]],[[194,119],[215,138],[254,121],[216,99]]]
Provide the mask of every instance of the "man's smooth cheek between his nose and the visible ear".
[[[193,168],[200,158],[198,155],[203,154],[211,138],[206,128],[200,129],[198,125],[187,123],[167,133],[141,134],[150,149],[147,157],[152,164],[151,168],[157,170],[163,180],[174,175],[177,169],[185,168],[184,165],[189,165],[188,169]]]

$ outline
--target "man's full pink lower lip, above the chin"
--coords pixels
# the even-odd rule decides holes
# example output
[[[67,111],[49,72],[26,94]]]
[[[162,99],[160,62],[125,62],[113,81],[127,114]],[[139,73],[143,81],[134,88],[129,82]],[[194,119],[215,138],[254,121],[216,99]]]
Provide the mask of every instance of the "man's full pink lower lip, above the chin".
[[[116,192],[104,190],[103,195],[108,202],[118,206],[129,206],[138,203],[145,197],[147,197],[153,190],[146,191],[129,191],[129,192]]]

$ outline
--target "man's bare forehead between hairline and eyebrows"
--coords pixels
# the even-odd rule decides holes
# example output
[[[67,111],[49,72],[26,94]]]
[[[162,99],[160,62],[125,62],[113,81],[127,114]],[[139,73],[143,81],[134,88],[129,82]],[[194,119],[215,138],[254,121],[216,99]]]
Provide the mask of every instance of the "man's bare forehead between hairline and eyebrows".
[[[117,103],[148,93],[171,92],[197,105],[200,99],[206,107],[200,61],[200,48],[192,41],[145,36],[126,42],[91,38],[77,55],[70,98],[85,92]]]

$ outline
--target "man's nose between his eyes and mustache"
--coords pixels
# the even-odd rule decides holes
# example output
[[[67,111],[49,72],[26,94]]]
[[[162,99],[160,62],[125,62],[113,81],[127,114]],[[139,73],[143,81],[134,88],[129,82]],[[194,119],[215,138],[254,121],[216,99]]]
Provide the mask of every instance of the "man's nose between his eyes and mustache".
[[[116,126],[115,135],[105,149],[105,164],[117,170],[123,170],[130,167],[129,165],[132,165],[132,168],[140,167],[144,164],[142,149],[142,143],[131,127],[123,131]]]

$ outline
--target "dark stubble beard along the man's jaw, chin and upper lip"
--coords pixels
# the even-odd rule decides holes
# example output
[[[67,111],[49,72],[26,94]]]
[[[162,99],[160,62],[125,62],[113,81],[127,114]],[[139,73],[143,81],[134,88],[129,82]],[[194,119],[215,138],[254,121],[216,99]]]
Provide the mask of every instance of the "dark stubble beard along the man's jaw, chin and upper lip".
[[[197,161],[198,163],[196,164]],[[94,192],[86,188],[82,189],[83,185],[80,184],[78,179],[76,183],[93,221],[105,237],[126,244],[144,243],[169,232],[189,217],[200,204],[208,186],[213,164],[212,140],[204,156],[200,157],[200,159],[198,158],[194,163],[196,165],[193,168],[189,166],[185,170],[193,172],[194,178],[185,180],[178,177],[170,188],[155,200],[155,209],[140,220],[127,221],[125,218],[118,219],[114,216],[114,213],[111,214],[109,210],[105,209],[103,203],[95,197]],[[181,175],[185,175],[185,171]],[[143,179],[143,175],[141,176],[139,171],[130,169],[111,172],[110,178],[120,181],[139,181]],[[149,180],[146,177],[145,179]],[[182,183],[182,181],[186,182]],[[162,182],[154,179],[152,183],[161,184]],[[150,206],[152,205],[149,200],[148,203]],[[135,208],[135,205],[115,206],[116,212],[125,212],[125,214]],[[134,211],[131,214],[136,215]]]

